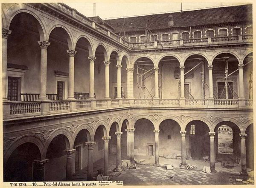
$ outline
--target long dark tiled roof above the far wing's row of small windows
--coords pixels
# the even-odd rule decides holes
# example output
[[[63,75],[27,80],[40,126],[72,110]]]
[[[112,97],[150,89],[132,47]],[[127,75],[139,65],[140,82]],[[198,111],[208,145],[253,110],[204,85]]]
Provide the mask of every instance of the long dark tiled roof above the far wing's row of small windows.
[[[148,29],[154,30],[172,27],[204,26],[220,23],[244,22],[252,21],[253,19],[251,4],[174,12],[172,13],[174,20],[174,25],[172,27],[168,26],[169,15],[170,13],[127,17],[125,18],[125,24],[139,27],[145,27],[145,24],[147,24]],[[124,23],[124,18],[105,20],[105,22],[115,28],[115,32],[120,32],[122,24]],[[118,26],[118,24],[121,26]],[[125,31],[127,32],[143,30],[144,29],[125,27]]]

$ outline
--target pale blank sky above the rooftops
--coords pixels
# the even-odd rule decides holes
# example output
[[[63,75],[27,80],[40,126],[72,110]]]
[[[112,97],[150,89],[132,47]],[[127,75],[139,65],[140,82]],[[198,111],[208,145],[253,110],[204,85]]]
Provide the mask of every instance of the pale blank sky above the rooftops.
[[[140,1],[141,2],[141,1]],[[93,3],[65,3],[71,8],[76,9],[86,17],[93,16]],[[223,3],[223,6],[241,5],[246,3]],[[182,9],[198,9],[206,7],[221,6],[221,3],[182,3]],[[96,2],[96,16],[102,19],[110,19],[117,17],[135,16],[142,14],[156,14],[170,11],[180,11],[181,3],[116,3],[116,2]]]

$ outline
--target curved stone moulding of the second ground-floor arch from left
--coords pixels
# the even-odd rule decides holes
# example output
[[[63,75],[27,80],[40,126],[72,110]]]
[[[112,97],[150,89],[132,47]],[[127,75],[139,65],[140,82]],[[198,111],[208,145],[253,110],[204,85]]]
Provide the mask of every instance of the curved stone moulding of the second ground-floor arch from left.
[[[64,135],[65,137],[67,137],[67,149],[72,149],[71,146],[73,146],[73,142],[74,140],[72,139],[72,135],[70,134],[69,131],[67,131],[67,129],[65,128],[57,128],[55,131],[52,132],[52,134],[49,136],[49,138],[47,139],[47,142],[45,144],[45,151],[47,151],[50,143],[52,142],[52,140],[57,137],[58,135]],[[46,152],[45,152],[46,154]]]

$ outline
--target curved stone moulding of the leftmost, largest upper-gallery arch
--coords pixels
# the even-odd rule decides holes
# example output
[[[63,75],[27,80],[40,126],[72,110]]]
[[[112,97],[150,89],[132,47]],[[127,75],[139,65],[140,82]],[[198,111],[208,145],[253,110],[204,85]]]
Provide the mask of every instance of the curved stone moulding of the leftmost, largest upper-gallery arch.
[[[47,38],[47,34],[46,34],[46,28],[44,27],[44,24],[43,22],[41,22],[41,20],[39,19],[39,17],[32,11],[29,11],[29,10],[26,10],[26,9],[20,9],[20,10],[17,10],[16,12],[14,12],[9,20],[9,23],[8,23],[8,29],[10,29],[10,26],[11,26],[11,23],[12,23],[12,20],[13,18],[19,14],[19,13],[27,13],[27,14],[30,14],[32,15],[33,17],[35,17],[36,20],[38,20],[38,23],[40,24],[41,27],[38,26],[38,31],[39,31],[39,35],[40,35],[40,40],[41,41],[44,41],[44,40],[48,40]],[[3,14],[3,13],[2,13]]]

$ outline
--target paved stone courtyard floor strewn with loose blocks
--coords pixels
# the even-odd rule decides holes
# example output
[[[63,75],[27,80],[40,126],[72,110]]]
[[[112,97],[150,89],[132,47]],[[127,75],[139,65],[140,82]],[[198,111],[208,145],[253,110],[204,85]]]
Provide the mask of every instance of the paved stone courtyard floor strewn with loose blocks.
[[[115,167],[116,155],[111,154],[109,157],[110,170]],[[118,177],[111,177],[113,181],[123,181],[124,185],[241,185],[243,183],[236,182],[236,179],[254,179],[252,176],[241,176],[241,166],[235,164],[233,168],[221,167],[220,163],[216,163],[216,173],[206,174],[202,172],[203,166],[209,166],[208,162],[201,160],[187,160],[187,163],[196,165],[197,169],[184,170],[180,169],[180,159],[160,158],[160,167],[153,166],[153,156],[134,156],[136,159],[145,160],[145,165],[137,165],[136,169],[125,169]],[[94,164],[94,174],[97,174],[99,168],[103,168],[103,161]],[[174,165],[174,170],[167,171],[163,167],[164,164]],[[250,171],[248,169],[248,171]],[[87,172],[76,174],[74,180],[86,180]],[[250,173],[249,173],[250,174]]]

